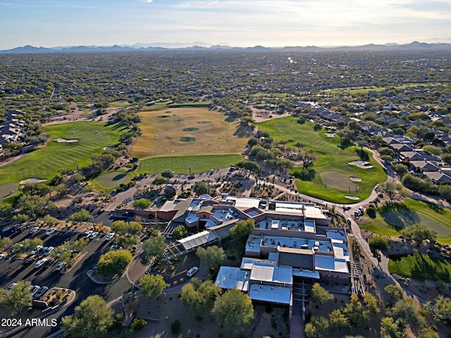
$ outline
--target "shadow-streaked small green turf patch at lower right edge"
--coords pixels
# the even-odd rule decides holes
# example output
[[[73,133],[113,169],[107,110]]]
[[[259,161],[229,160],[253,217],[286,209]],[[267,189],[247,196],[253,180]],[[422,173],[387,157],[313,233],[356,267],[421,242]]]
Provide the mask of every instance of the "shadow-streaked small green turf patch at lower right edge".
[[[390,273],[397,273],[404,277],[417,278],[419,280],[443,280],[451,279],[451,264],[438,258],[414,253],[411,255],[392,255],[388,261]]]

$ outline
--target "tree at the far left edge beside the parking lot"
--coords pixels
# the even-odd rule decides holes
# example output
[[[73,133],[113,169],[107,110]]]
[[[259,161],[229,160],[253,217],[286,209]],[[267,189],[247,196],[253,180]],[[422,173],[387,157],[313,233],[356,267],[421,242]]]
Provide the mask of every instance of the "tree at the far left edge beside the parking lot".
[[[24,308],[30,308],[33,300],[30,285],[31,282],[20,280],[10,292],[0,289],[0,308],[6,310],[10,315],[15,315]]]

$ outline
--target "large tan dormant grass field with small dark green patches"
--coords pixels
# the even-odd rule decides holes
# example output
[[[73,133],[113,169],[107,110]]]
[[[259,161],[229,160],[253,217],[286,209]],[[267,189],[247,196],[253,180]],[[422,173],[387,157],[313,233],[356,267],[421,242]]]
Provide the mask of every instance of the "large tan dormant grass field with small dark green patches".
[[[237,137],[237,121],[206,108],[166,108],[140,113],[141,136],[131,156],[241,154],[247,137]]]

